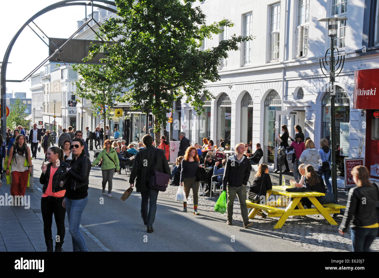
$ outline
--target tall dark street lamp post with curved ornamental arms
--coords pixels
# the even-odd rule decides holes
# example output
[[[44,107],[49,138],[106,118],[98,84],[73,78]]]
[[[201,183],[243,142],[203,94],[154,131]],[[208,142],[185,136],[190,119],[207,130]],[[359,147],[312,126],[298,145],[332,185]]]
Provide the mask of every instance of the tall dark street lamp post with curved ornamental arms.
[[[325,74],[324,69],[329,71],[329,81],[330,81],[330,127],[331,127],[331,148],[330,151],[332,152],[332,192],[335,196],[335,201],[337,202],[337,164],[335,162],[335,109],[334,109],[334,101],[335,101],[335,88],[334,88],[334,82],[335,77],[341,73],[341,70],[343,68],[343,64],[345,62],[345,55],[346,54],[339,54],[338,48],[334,46],[334,39],[337,37],[337,30],[338,30],[338,24],[337,21],[346,20],[347,17],[327,17],[324,19],[319,19],[320,22],[328,22],[327,28],[328,28],[328,36],[330,37],[330,48],[326,50],[325,57],[318,59],[320,63],[320,68],[323,74],[327,77],[327,74]],[[327,57],[327,53],[330,49],[330,57]],[[336,50],[337,55],[335,55],[334,51]],[[337,60],[335,59],[337,57]],[[328,61],[329,60],[329,63]],[[321,66],[321,61],[323,65]],[[336,68],[337,66],[337,68]],[[338,71],[336,74],[335,72]]]

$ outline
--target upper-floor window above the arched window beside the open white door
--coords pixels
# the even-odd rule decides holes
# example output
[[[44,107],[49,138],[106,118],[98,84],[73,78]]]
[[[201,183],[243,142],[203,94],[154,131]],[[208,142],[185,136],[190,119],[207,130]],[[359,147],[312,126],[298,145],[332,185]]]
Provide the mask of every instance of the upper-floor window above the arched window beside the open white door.
[[[279,59],[280,3],[270,6],[269,60]]]

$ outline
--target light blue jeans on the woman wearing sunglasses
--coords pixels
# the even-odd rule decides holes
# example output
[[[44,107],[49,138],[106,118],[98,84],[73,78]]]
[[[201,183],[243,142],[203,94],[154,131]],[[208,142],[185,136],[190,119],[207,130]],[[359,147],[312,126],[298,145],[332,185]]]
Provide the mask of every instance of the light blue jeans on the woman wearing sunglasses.
[[[88,251],[83,235],[80,233],[79,225],[81,215],[88,202],[88,196],[80,200],[65,198],[67,219],[69,220],[69,232],[72,237],[72,249],[74,252]]]

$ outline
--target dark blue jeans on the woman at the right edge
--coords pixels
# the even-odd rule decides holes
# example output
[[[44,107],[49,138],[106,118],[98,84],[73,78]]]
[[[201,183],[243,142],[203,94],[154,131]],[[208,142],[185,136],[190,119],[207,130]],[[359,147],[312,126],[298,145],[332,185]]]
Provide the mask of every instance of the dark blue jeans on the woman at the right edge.
[[[353,252],[370,252],[370,245],[373,243],[379,228],[351,228],[351,241]]]

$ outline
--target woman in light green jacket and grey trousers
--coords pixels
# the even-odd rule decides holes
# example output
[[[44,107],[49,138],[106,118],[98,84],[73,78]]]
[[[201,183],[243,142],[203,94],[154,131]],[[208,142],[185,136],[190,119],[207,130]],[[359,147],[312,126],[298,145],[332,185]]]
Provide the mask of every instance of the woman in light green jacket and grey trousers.
[[[99,155],[97,155],[95,161],[92,162],[92,167],[99,163],[100,159],[102,159],[101,172],[103,175],[103,194],[105,194],[105,186],[106,182],[108,182],[108,197],[112,197],[113,175],[115,170],[117,172],[120,170],[120,162],[117,156],[117,152],[111,147],[110,140],[105,140],[104,148],[99,153]]]

